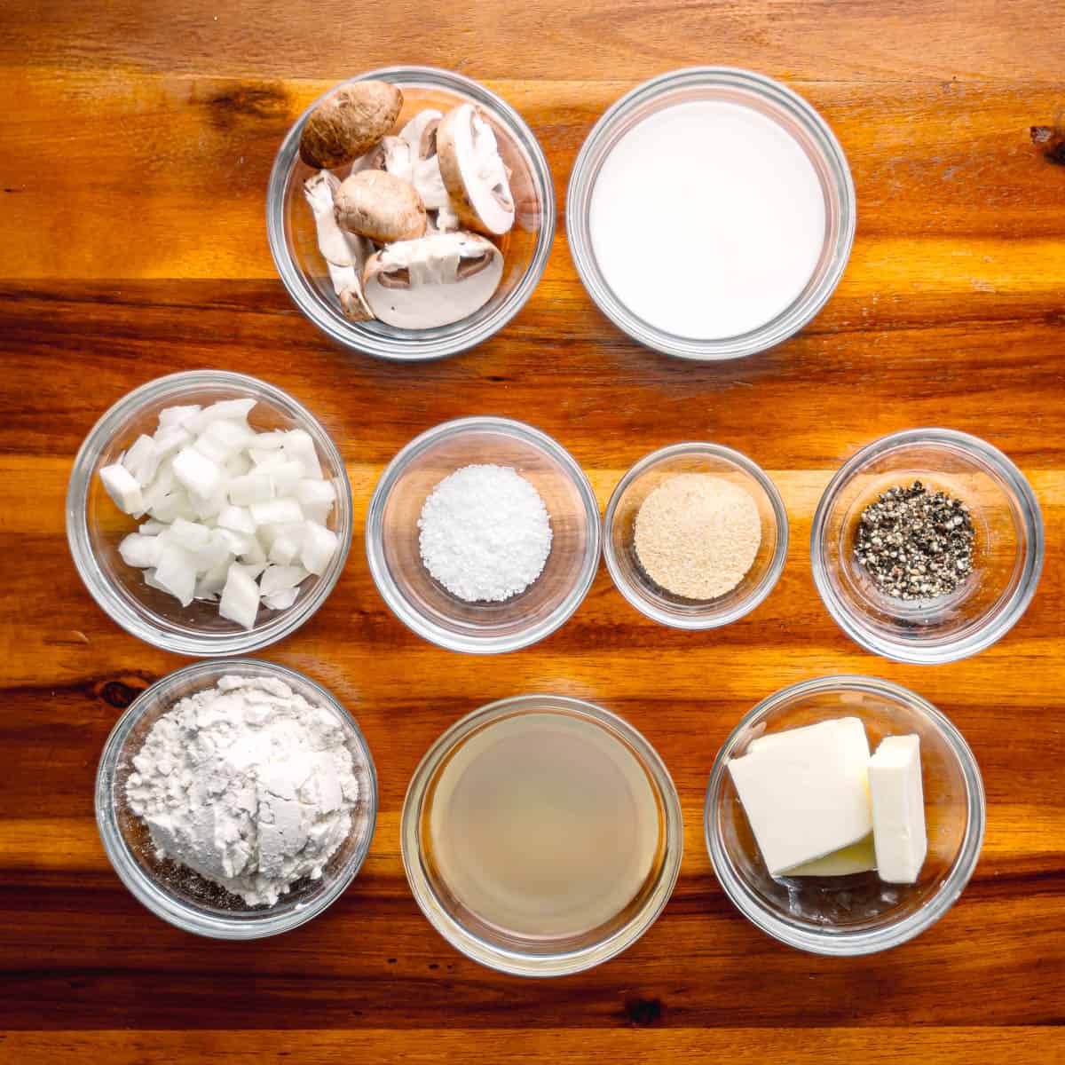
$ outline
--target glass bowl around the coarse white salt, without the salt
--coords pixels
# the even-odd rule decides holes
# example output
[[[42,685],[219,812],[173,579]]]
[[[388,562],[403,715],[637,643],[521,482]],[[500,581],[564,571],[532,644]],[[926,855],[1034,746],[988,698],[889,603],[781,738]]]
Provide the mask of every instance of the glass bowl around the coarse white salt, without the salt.
[[[531,482],[551,515],[551,554],[524,592],[502,603],[466,603],[422,562],[417,521],[432,490],[474,463],[511,466]],[[366,558],[392,612],[450,651],[497,654],[526,648],[562,625],[599,568],[599,503],[573,456],[546,433],[505,417],[445,422],[389,463],[366,515]]]

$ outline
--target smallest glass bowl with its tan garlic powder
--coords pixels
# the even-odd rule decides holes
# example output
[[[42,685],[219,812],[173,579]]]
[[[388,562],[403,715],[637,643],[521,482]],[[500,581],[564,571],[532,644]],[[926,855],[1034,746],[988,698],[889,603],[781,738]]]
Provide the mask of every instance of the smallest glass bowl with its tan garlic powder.
[[[742,618],[772,591],[788,551],[775,485],[747,456],[685,443],[640,459],[603,519],[603,554],[618,590],[674,628]]]

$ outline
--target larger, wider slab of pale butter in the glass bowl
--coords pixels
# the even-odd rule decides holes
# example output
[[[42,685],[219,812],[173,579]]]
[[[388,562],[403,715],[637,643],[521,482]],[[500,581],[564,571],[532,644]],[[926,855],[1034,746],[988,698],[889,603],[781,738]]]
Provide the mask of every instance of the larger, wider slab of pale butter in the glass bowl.
[[[868,771],[869,740],[858,718],[764,736],[728,763],[771,875],[870,833]]]

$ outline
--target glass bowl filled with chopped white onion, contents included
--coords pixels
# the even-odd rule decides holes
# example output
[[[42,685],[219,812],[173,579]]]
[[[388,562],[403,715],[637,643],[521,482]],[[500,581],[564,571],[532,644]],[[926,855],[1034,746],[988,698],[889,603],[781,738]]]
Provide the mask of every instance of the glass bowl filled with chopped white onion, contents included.
[[[340,452],[292,396],[244,374],[149,381],[75,459],[67,539],[99,606],[179,654],[259,651],[337,584],[351,542]]]

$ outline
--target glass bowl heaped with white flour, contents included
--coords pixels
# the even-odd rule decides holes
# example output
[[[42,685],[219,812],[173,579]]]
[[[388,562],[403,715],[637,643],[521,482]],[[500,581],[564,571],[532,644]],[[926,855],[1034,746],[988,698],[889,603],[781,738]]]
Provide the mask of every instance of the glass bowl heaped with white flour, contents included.
[[[197,662],[122,715],[96,817],[133,896],[178,928],[276,935],[317,916],[370,850],[377,777],[358,725],[273,662]]]

